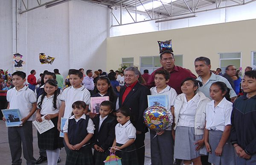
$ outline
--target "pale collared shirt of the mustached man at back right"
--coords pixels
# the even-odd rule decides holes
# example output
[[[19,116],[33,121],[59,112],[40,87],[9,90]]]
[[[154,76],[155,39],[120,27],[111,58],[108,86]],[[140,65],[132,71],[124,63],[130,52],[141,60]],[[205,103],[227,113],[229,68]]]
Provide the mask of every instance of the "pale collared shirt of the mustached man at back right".
[[[203,83],[202,78],[199,76],[196,80],[199,80]],[[217,81],[221,81],[223,83],[225,83],[227,85],[227,88],[230,88],[230,98],[232,97],[236,97],[236,92],[233,90],[232,86],[230,85],[230,83],[228,82],[228,80],[225,77],[216,75],[216,74],[212,74],[211,73],[211,77],[209,78],[209,80],[199,88],[199,91],[203,92],[204,95],[206,97],[208,97],[210,100],[212,100],[212,98],[210,97],[210,92],[209,89],[212,85],[212,83],[215,83]]]

